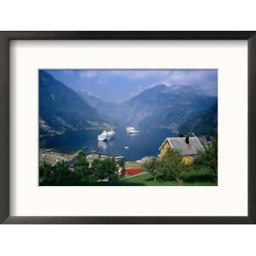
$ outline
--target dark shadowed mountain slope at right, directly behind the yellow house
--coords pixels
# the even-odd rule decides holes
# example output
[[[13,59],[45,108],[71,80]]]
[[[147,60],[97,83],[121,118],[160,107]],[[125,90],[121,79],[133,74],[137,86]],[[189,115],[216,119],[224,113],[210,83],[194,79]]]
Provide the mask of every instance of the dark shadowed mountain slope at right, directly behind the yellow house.
[[[179,127],[182,134],[195,133],[197,136],[214,136],[218,135],[218,105],[196,115]]]

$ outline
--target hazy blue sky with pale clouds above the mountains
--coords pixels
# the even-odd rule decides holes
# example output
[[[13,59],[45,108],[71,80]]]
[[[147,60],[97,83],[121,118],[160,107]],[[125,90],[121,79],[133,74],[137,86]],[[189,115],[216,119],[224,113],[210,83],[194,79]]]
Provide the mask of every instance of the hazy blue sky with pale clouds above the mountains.
[[[125,102],[157,84],[199,86],[207,94],[218,94],[218,70],[45,70],[76,91],[87,91],[107,102]]]

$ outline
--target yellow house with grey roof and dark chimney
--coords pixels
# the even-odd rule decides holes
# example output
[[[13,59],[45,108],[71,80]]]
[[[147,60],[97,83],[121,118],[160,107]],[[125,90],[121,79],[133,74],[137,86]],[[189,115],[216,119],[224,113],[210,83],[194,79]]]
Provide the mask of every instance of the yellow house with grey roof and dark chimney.
[[[160,157],[166,154],[167,148],[177,150],[183,156],[183,163],[192,164],[196,156],[204,151],[198,137],[166,137],[166,140],[160,145]]]

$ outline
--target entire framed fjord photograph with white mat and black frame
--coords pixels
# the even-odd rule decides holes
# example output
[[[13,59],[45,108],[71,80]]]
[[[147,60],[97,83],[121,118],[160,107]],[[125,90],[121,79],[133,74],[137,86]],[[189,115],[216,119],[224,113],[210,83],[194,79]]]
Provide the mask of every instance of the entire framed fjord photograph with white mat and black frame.
[[[0,32],[3,224],[255,224],[254,32]]]

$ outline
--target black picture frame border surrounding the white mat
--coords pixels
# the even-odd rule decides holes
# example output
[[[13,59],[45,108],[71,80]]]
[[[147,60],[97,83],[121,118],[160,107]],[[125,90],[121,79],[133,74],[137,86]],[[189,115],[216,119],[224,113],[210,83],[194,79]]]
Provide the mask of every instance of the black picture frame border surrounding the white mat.
[[[248,216],[247,217],[13,217],[9,214],[9,42],[12,40],[247,40]],[[0,223],[2,224],[256,224],[256,33],[200,32],[0,32]]]

